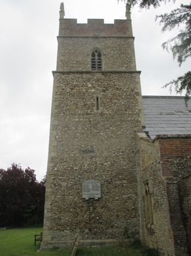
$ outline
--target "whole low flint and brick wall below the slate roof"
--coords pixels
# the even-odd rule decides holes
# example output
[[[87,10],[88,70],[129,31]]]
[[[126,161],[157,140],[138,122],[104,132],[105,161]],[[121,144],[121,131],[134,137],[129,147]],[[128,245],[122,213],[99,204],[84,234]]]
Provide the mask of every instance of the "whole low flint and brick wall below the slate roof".
[[[140,211],[143,240],[162,255],[189,255],[190,138],[186,135],[140,139],[140,188],[151,180],[153,225],[147,225],[144,197]]]

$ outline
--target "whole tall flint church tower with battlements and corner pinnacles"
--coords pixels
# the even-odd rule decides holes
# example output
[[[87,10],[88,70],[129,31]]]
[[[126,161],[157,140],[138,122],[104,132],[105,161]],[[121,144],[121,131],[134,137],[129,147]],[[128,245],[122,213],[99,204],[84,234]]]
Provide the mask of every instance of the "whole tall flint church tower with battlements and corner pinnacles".
[[[42,249],[140,236],[136,134],[143,125],[127,19],[64,19],[53,71]]]

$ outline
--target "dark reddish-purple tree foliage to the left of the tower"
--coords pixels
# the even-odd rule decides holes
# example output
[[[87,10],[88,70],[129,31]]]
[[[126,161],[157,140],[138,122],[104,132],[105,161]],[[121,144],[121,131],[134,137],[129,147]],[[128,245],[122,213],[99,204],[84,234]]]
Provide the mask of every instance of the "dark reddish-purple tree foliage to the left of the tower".
[[[31,168],[0,169],[0,227],[42,223],[44,197],[45,180],[38,182]]]

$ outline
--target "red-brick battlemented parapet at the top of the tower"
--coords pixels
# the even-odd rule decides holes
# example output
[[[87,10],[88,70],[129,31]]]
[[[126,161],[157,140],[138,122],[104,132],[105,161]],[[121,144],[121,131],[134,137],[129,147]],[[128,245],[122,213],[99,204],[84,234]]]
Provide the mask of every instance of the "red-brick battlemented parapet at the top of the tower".
[[[77,23],[77,19],[60,19],[59,36],[90,37],[132,37],[131,20],[115,20],[113,24],[104,19],[88,19],[87,23]]]

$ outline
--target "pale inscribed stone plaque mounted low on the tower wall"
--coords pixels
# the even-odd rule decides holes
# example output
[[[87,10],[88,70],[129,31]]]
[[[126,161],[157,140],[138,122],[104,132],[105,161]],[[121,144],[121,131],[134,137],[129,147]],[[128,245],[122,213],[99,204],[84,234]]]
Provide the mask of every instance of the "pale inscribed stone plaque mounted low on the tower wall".
[[[85,198],[85,200],[89,198],[98,200],[98,198],[101,198],[101,183],[92,179],[85,180],[82,183],[82,198]]]

